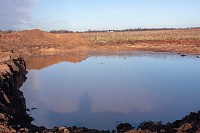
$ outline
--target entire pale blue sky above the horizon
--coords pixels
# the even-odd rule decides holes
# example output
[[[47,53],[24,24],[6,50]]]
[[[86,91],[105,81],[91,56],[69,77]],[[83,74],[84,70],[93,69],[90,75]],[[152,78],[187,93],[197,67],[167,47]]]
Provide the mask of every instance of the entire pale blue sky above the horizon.
[[[15,1],[0,2],[0,8],[17,17],[16,19],[13,15],[8,18],[0,9],[0,15],[3,15],[0,16],[3,20],[0,22],[0,29],[83,31],[200,26],[200,0],[18,0],[20,3]],[[2,6],[5,3],[7,5]],[[9,6],[13,8],[7,8]]]

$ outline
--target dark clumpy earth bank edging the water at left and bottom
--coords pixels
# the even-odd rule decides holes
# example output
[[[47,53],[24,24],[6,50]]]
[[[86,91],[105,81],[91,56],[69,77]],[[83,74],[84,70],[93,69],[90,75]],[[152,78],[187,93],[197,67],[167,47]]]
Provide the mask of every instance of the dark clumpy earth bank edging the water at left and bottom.
[[[46,129],[31,122],[33,118],[27,114],[26,101],[20,87],[26,81],[26,64],[22,58],[8,59],[0,62],[0,132],[10,133],[109,133],[85,127],[55,127]],[[198,133],[200,132],[200,111],[190,113],[182,120],[173,123],[143,122],[138,128],[129,123],[121,123],[113,133]]]

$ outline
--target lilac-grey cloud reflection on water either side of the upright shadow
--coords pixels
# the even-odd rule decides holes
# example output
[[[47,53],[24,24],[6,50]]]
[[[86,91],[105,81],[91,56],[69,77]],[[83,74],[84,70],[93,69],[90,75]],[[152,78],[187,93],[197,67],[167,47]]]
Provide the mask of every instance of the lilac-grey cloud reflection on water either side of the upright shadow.
[[[134,93],[131,90],[124,90],[123,92],[107,92],[106,94],[101,94],[98,91],[93,90],[85,92],[79,90],[65,90],[59,91],[57,93],[45,92],[43,99],[46,99],[46,104],[54,112],[60,113],[71,113],[78,111],[78,105],[88,101],[87,99],[82,99],[90,95],[91,111],[92,112],[117,112],[117,113],[131,113],[134,111],[139,112],[150,112],[155,110],[154,101],[148,96],[148,94]],[[142,93],[142,92],[141,92]],[[145,96],[147,95],[147,96]],[[152,96],[152,94],[151,94]],[[44,102],[44,101],[43,101]],[[81,104],[83,105],[83,104]],[[83,108],[81,108],[83,109]]]

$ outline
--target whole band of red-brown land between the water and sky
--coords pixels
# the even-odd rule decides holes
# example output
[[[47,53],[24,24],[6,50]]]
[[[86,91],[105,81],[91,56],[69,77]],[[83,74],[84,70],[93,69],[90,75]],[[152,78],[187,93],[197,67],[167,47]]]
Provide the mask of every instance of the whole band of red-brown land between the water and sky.
[[[0,33],[1,59],[90,50],[142,50],[200,55],[200,29],[53,34],[41,30]],[[12,54],[11,54],[12,53]]]

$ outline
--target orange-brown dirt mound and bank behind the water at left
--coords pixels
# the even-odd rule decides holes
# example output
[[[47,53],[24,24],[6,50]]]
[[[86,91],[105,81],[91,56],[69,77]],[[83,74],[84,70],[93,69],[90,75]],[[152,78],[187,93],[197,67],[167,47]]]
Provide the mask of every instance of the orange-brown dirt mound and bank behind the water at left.
[[[0,33],[1,51],[20,55],[83,51],[90,45],[88,39],[76,33],[53,34],[38,29]]]

